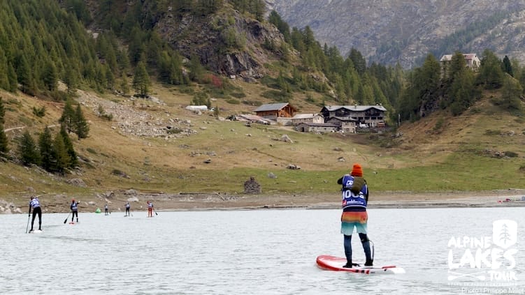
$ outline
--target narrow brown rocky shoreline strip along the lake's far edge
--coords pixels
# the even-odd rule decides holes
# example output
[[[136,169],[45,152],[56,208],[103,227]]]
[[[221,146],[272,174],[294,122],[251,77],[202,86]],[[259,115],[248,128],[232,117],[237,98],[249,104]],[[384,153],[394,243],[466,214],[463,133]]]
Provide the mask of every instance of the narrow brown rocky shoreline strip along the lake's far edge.
[[[485,192],[377,192],[370,197],[370,209],[406,208],[463,208],[525,206],[525,190],[492,190]],[[13,202],[0,199],[0,214],[26,213],[30,195],[17,197]],[[61,194],[40,195],[44,213],[69,212],[72,197]],[[75,197],[80,200],[80,212],[94,212],[108,204],[110,211],[124,212],[124,204],[131,211],[146,211],[151,201],[156,211],[212,211],[258,209],[339,209],[338,194],[263,195],[227,193],[140,193],[134,190],[108,192],[96,196]]]

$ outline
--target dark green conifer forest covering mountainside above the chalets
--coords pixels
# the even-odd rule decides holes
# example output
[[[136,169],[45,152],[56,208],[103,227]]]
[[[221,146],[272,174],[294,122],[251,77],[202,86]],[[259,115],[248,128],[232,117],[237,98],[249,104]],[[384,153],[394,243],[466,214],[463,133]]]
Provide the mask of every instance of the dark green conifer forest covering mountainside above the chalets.
[[[173,40],[162,37],[159,24],[169,18],[171,30],[185,27],[175,32],[179,43],[211,25],[208,32],[215,35],[206,43],[216,56],[247,53],[254,55],[253,61],[261,55],[271,61],[262,65],[266,75],[250,80],[268,87],[261,99],[293,102],[294,93],[315,91],[323,97],[319,105],[380,104],[391,121],[415,121],[436,109],[459,115],[480,98],[482,89],[501,89],[501,100],[493,103],[522,114],[525,70],[508,56],[500,60],[485,50],[479,70],[473,71],[456,52],[448,73],[431,53],[422,67],[412,70],[367,64],[358,50],[343,56],[337,47],[321,45],[310,27],[290,28],[275,11],[265,20],[264,11],[261,0],[2,1],[0,88],[66,105],[74,100],[75,89],[147,97],[154,82],[201,85],[194,93],[196,104],[208,104],[212,96],[242,99],[243,89],[206,63],[220,58],[181,52]],[[245,20],[260,24],[261,31],[274,27],[280,36],[257,43],[243,27]],[[59,90],[59,81],[66,91]],[[82,121],[81,116],[71,118]]]

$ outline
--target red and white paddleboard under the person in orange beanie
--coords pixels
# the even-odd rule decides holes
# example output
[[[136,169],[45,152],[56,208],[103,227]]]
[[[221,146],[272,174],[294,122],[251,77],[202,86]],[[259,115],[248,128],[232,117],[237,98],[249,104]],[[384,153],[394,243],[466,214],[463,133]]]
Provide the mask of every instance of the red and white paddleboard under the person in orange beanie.
[[[371,274],[398,274],[405,273],[405,269],[394,265],[389,266],[353,266],[352,268],[343,267],[346,264],[346,258],[335,257],[331,255],[321,255],[316,259],[317,266],[327,271],[347,271],[349,273]]]

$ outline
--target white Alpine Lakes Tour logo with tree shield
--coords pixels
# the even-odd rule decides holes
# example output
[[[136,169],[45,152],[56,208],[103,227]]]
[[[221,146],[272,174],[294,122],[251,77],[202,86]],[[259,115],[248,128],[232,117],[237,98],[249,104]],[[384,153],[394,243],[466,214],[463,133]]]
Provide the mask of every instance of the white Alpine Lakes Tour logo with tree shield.
[[[496,220],[492,236],[452,236],[448,242],[448,280],[516,281],[517,228],[514,220]]]

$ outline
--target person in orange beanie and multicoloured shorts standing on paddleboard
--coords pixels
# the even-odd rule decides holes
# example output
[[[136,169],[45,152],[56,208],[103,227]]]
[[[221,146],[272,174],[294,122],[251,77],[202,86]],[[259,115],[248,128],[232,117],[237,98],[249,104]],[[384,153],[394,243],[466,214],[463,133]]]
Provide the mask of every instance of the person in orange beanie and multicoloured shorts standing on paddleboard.
[[[345,174],[338,179],[338,184],[342,185],[343,192],[343,214],[341,215],[341,234],[344,236],[345,255],[347,264],[343,267],[352,268],[352,234],[354,228],[359,234],[359,239],[363,244],[366,262],[365,266],[373,266],[373,258],[370,250],[370,240],[368,240],[366,222],[366,204],[368,203],[368,185],[363,178],[361,165],[354,164],[352,172]]]

